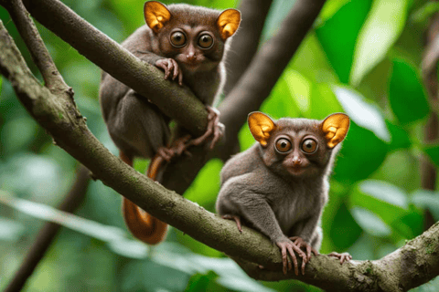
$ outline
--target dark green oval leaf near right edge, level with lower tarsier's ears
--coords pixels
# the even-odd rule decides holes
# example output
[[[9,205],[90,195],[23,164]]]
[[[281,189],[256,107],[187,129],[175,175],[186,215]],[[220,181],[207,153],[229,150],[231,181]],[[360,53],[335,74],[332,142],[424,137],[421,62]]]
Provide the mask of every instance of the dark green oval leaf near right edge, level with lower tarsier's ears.
[[[393,60],[389,101],[391,110],[402,123],[421,120],[430,112],[423,81],[416,69],[402,59]]]

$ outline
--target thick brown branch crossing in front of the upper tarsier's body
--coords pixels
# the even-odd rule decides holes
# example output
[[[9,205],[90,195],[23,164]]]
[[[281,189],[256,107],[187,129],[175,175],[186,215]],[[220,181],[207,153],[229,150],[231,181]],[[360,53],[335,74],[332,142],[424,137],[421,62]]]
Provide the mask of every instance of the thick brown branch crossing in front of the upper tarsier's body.
[[[0,0],[10,5],[12,0]],[[187,87],[164,80],[158,68],[142,62],[58,0],[25,0],[39,23],[76,48],[104,71],[151,100],[193,135],[203,134],[208,112]],[[185,110],[181,110],[182,108]]]

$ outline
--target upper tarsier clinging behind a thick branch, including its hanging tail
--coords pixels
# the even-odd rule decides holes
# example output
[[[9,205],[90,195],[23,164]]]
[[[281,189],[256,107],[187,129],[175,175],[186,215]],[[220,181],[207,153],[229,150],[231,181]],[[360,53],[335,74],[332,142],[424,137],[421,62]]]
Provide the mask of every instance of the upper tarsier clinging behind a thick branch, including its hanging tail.
[[[222,135],[223,125],[211,106],[225,79],[222,59],[226,40],[238,29],[241,14],[235,9],[220,12],[193,5],[166,6],[156,1],[146,2],[144,13],[146,25],[122,46],[135,57],[163,69],[165,79],[186,85],[209,111],[204,135],[189,141],[190,136],[177,125],[175,138],[170,141],[170,119],[150,102],[150,97],[141,96],[102,72],[100,101],[112,141],[129,165],[133,165],[134,157],[152,158],[147,175],[155,179],[160,162],[169,162],[188,146],[210,138],[213,148]],[[123,215],[130,231],[145,243],[154,245],[165,239],[167,224],[127,199],[123,199]]]

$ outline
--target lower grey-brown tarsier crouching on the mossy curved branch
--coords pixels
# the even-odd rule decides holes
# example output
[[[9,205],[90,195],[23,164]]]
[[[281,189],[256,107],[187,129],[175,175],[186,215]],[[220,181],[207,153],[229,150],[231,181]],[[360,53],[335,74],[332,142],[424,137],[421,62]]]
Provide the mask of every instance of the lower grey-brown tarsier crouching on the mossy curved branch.
[[[325,120],[280,119],[252,112],[249,128],[258,143],[233,156],[221,171],[216,204],[224,219],[241,222],[267,235],[279,246],[283,271],[298,275],[294,251],[303,259],[302,274],[322,241],[320,218],[327,203],[329,183],[349,118],[335,113]],[[302,251],[301,248],[305,249]],[[331,253],[343,264],[348,254]]]

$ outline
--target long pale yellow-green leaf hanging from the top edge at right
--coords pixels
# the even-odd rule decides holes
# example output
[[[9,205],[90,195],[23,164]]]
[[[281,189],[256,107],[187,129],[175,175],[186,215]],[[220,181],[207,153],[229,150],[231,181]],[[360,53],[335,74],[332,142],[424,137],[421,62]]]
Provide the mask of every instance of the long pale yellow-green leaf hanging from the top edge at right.
[[[386,56],[402,33],[407,17],[407,0],[375,0],[368,19],[359,31],[349,82],[361,79]]]

